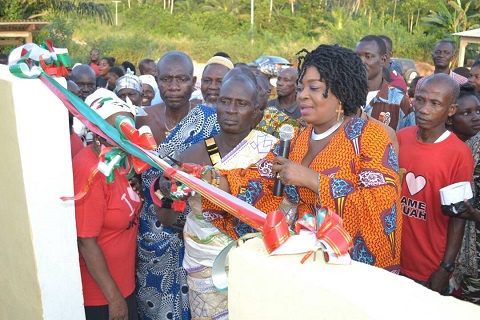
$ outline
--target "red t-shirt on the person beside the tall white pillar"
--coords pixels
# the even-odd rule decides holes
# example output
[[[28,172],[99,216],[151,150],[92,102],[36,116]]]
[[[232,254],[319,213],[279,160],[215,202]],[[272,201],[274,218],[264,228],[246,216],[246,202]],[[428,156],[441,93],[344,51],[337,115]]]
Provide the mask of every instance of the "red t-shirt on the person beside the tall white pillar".
[[[83,190],[92,168],[98,163],[91,147],[83,148],[73,159],[75,193]],[[138,213],[142,206],[126,176],[115,171],[113,183],[98,173],[87,194],[75,201],[77,236],[97,238],[108,270],[124,297],[135,289],[135,258]],[[86,306],[108,304],[80,255],[83,298]]]

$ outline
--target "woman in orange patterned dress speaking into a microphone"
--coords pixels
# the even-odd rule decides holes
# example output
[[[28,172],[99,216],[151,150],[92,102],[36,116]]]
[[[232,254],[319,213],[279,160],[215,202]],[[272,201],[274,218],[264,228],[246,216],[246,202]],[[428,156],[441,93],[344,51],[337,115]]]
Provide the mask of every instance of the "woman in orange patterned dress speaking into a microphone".
[[[297,102],[309,126],[296,132],[289,159],[277,155],[277,146],[254,167],[222,171],[227,179],[221,187],[266,213],[285,200],[297,206],[296,218],[331,208],[353,238],[353,260],[398,273],[397,156],[379,123],[355,116],[366,101],[365,67],[353,51],[337,45],[302,53]],[[275,177],[286,185],[282,197],[272,194]],[[249,231],[212,204],[203,207],[204,216],[234,238]]]

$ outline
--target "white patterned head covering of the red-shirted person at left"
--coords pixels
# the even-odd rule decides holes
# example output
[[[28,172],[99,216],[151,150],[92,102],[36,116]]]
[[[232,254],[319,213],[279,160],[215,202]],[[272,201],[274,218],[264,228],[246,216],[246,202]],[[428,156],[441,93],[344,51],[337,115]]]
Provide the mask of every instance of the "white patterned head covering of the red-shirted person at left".
[[[136,115],[134,105],[124,102],[115,93],[105,88],[97,89],[85,99],[85,103],[103,119],[118,112],[129,112],[133,116]]]

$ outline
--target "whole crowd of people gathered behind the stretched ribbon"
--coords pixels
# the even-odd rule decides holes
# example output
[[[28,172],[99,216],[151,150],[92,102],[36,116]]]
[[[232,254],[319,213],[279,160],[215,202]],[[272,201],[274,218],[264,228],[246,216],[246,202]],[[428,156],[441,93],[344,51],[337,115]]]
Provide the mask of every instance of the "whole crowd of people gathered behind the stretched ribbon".
[[[461,76],[450,69],[455,46],[439,41],[434,73],[407,85],[392,51],[389,37],[369,35],[352,49],[303,49],[296,69],[219,52],[196,88],[185,53],[144,59],[137,76],[93,49],[68,89],[113,126],[119,116],[149,126],[159,157],[195,164],[192,174],[265,213],[281,210],[292,229],[330,208],[353,260],[480,304],[480,60]],[[278,148],[285,124],[295,128],[288,158]],[[198,194],[185,203],[155,168],[89,181],[111,145],[87,131],[71,131],[75,191],[90,186],[75,203],[87,319],[227,319],[213,261],[253,228]],[[464,181],[473,200],[446,212],[439,190]]]

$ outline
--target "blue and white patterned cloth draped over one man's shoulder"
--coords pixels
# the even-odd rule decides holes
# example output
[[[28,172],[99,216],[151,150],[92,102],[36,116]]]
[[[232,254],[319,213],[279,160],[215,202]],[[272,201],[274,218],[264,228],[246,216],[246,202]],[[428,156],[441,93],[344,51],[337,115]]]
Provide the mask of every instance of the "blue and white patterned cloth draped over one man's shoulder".
[[[161,158],[181,153],[218,133],[214,108],[198,105],[180,121],[156,150]],[[150,186],[160,176],[156,169],[142,174],[145,201],[138,230],[137,300],[143,320],[190,319],[188,286],[182,267],[184,243],[178,232],[158,222]],[[185,219],[181,215],[180,219]]]

